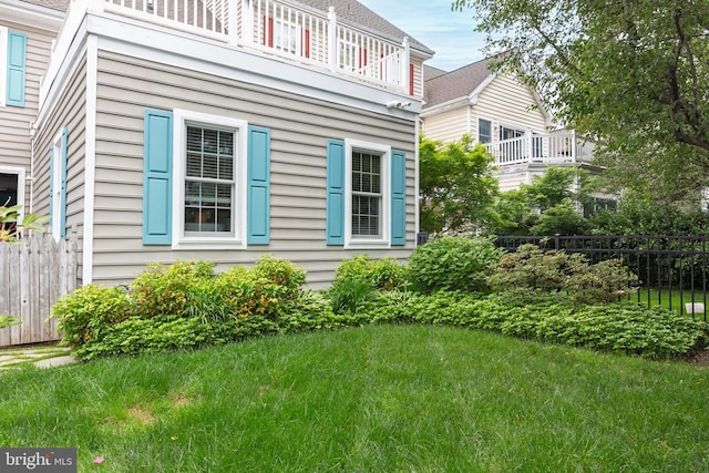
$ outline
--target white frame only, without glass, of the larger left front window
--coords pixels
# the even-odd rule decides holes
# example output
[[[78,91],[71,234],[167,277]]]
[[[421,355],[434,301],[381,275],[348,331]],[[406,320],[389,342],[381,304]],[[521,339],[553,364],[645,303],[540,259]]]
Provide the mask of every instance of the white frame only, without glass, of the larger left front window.
[[[173,117],[173,249],[246,248],[248,122],[188,110],[174,110]],[[232,195],[234,235],[185,235],[187,125],[234,132],[234,172],[236,173]]]

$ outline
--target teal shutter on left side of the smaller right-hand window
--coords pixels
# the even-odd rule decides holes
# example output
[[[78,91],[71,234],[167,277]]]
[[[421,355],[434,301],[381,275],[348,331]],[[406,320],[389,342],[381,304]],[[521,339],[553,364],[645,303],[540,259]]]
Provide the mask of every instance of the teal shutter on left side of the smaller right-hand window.
[[[326,238],[328,245],[345,245],[345,142],[328,141]]]

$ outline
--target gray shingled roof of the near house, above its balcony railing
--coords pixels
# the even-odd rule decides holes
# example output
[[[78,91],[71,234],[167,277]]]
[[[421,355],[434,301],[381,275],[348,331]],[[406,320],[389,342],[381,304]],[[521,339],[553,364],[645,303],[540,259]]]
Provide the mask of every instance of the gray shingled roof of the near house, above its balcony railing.
[[[22,0],[27,3],[40,7],[51,8],[52,10],[66,11],[71,0]],[[235,0],[233,0],[235,1]],[[404,37],[409,34],[384,20],[357,0],[296,0],[310,8],[327,12],[330,7],[335,7],[335,12],[339,20],[352,23],[357,27],[363,27],[372,33],[379,33],[389,37],[392,40],[402,42]],[[411,48],[421,51],[424,54],[433,55],[433,51],[414,38],[409,37]]]

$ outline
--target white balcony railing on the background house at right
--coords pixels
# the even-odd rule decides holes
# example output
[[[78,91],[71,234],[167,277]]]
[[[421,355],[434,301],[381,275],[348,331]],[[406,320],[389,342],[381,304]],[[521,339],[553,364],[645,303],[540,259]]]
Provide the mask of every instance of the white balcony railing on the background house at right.
[[[499,166],[524,163],[589,163],[594,143],[575,132],[527,133],[511,140],[485,143]]]

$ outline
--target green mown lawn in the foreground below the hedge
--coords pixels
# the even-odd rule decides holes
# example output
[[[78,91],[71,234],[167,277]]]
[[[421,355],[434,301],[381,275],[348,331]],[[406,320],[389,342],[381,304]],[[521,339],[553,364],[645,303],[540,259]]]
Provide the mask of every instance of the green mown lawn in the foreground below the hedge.
[[[270,337],[0,379],[0,445],[78,446],[80,472],[709,469],[709,369],[451,327]]]

